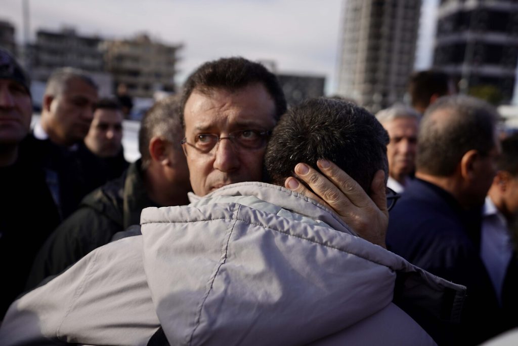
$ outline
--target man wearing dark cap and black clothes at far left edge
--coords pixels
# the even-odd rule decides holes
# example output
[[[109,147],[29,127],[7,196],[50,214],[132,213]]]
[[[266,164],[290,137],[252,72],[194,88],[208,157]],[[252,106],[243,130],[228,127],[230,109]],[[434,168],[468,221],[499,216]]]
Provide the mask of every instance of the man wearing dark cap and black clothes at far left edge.
[[[59,222],[42,170],[25,153],[32,116],[30,80],[0,48],[0,320],[25,285],[39,246]]]

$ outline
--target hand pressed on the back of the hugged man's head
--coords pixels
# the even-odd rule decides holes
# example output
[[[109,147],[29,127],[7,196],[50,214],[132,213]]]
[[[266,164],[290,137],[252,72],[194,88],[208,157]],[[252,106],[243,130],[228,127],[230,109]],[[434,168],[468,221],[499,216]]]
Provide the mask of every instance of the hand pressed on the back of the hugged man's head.
[[[317,165],[324,175],[305,163],[295,166],[295,173],[299,179],[313,191],[300,184],[294,177],[287,178],[284,186],[333,209],[358,236],[386,247],[385,234],[389,224],[389,212],[386,206],[383,171],[376,172],[372,179],[369,197],[353,178],[333,162],[319,160]]]

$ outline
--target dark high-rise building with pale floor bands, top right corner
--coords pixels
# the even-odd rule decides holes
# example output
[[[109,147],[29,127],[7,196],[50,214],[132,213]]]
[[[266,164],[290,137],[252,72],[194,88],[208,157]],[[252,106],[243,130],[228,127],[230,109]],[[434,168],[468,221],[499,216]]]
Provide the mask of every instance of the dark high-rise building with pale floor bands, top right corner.
[[[516,0],[441,0],[434,68],[459,81],[463,93],[513,96],[518,61]]]

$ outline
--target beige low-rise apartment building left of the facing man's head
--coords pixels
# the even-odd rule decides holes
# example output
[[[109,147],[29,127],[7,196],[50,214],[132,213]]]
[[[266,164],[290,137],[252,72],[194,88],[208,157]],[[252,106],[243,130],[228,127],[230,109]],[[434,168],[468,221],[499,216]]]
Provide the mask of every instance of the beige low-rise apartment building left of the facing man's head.
[[[105,68],[113,84],[125,84],[128,95],[149,98],[155,91],[174,92],[178,50],[153,42],[147,35],[133,39],[104,41]]]

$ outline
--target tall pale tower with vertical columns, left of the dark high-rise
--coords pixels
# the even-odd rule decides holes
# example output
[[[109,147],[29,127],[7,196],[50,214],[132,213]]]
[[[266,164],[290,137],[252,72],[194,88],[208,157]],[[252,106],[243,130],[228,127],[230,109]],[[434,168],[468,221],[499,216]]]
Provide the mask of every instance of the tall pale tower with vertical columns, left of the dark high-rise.
[[[345,0],[337,93],[371,112],[401,101],[420,13],[421,0]]]

